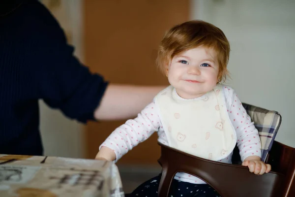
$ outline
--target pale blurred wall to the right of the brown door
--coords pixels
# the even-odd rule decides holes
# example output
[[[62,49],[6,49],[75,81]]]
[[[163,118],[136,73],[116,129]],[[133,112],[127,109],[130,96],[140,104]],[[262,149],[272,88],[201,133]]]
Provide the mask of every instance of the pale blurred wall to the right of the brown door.
[[[191,19],[224,31],[231,43],[228,83],[243,102],[276,110],[276,140],[295,147],[295,1],[191,0]]]

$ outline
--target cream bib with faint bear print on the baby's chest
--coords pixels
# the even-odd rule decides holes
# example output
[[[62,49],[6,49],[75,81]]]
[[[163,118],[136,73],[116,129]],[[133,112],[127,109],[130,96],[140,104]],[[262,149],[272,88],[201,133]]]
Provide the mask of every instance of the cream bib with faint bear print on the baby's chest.
[[[182,99],[169,86],[155,97],[169,146],[197,157],[218,161],[236,146],[222,90],[217,86],[197,99]]]

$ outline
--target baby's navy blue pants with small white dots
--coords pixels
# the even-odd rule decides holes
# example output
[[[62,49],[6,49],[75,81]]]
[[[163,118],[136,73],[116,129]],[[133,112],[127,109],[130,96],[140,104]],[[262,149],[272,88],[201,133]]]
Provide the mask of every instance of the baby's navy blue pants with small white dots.
[[[157,197],[161,174],[149,179],[125,197]],[[193,184],[173,179],[169,197],[221,197],[207,184]]]

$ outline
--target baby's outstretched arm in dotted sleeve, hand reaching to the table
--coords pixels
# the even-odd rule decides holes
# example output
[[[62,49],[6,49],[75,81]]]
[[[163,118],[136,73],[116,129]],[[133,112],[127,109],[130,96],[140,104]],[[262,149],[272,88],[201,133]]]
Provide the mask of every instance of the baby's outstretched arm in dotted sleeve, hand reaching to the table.
[[[134,146],[148,139],[154,131],[158,131],[160,126],[155,103],[152,102],[138,114],[137,118],[126,121],[125,124],[113,131],[100,145],[95,159],[117,162]]]

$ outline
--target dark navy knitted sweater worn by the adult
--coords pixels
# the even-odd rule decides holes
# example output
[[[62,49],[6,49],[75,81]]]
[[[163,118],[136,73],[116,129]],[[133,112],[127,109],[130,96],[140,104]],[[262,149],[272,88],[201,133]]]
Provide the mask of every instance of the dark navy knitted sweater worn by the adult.
[[[42,155],[38,100],[85,123],[107,83],[73,56],[40,2],[12,1],[0,2],[0,154]]]

